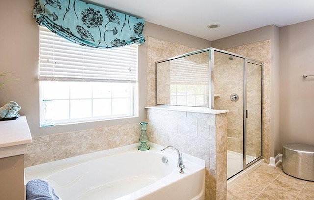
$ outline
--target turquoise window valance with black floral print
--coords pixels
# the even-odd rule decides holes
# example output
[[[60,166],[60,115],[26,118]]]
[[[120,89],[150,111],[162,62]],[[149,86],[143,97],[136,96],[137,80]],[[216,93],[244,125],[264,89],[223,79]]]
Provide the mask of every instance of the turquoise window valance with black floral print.
[[[35,0],[38,25],[74,43],[97,48],[143,44],[144,20],[80,0]]]

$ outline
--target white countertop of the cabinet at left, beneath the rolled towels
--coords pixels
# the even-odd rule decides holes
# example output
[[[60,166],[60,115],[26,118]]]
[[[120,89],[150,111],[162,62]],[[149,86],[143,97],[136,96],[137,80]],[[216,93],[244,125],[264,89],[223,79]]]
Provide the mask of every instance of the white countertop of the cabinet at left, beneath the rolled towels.
[[[32,142],[26,116],[0,121],[0,158],[26,153]]]

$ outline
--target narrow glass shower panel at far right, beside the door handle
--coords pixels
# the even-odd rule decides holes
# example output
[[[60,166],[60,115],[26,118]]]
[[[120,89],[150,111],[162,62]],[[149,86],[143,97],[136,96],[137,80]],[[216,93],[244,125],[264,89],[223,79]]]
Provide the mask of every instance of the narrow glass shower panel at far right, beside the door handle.
[[[244,165],[262,157],[262,65],[246,63],[246,124]]]

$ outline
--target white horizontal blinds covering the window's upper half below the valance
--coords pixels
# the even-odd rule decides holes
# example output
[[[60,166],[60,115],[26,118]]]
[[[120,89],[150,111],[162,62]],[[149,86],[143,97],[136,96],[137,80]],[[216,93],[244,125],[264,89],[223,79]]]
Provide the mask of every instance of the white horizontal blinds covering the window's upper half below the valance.
[[[114,49],[78,45],[40,26],[40,80],[135,83],[137,52],[137,45]]]

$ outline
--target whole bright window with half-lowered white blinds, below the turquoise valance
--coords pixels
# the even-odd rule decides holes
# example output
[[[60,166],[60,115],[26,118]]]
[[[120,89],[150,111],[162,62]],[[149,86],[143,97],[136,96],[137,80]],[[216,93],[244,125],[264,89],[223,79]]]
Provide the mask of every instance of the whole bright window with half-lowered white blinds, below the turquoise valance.
[[[137,59],[137,45],[91,48],[41,26],[41,126],[138,116]]]

